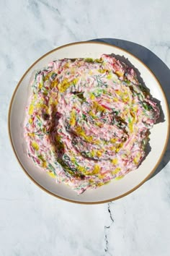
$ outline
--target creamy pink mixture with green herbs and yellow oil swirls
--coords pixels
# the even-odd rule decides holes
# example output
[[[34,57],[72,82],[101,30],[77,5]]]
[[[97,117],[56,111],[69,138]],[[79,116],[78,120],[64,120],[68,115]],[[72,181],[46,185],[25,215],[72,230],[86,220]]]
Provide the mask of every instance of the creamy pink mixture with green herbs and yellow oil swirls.
[[[111,55],[53,61],[32,82],[28,155],[80,194],[138,168],[159,113],[135,71]]]

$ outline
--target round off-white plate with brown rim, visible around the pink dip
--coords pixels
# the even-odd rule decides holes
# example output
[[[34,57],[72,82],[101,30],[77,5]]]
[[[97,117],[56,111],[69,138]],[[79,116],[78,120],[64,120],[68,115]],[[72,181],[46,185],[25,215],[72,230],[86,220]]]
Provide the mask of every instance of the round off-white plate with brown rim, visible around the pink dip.
[[[99,58],[101,54],[112,53],[125,56],[125,58],[128,58],[135,68],[139,70],[140,77],[143,78],[146,86],[151,90],[151,95],[161,102],[161,108],[164,112],[164,121],[155,124],[153,129],[151,129],[151,152],[148,153],[146,159],[140,165],[138,170],[131,171],[130,174],[119,181],[112,181],[98,189],[90,189],[82,195],[76,195],[76,192],[73,192],[71,188],[66,185],[56,184],[55,179],[52,179],[48,174],[41,171],[40,168],[36,167],[32,160],[27,157],[27,146],[23,137],[23,121],[25,107],[30,94],[30,88],[28,86],[30,84],[30,77],[32,76],[32,72],[36,69],[41,69],[42,67],[47,66],[49,61],[55,59],[78,57]],[[151,70],[135,56],[121,48],[106,43],[71,43],[45,54],[35,61],[27,72],[24,73],[14,91],[9,107],[9,137],[12,142],[14,153],[25,173],[30,176],[35,184],[42,189],[45,189],[46,192],[50,192],[51,195],[55,195],[56,197],[71,202],[108,202],[133,192],[156,170],[156,167],[158,166],[158,163],[160,163],[166,150],[166,144],[169,137],[169,110],[166,97],[158,80]]]

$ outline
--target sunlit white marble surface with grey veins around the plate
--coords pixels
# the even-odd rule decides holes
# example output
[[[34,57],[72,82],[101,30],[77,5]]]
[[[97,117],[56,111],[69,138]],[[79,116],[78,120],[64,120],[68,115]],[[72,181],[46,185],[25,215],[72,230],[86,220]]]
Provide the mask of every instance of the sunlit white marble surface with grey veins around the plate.
[[[57,46],[120,38],[145,46],[169,67],[169,9],[169,0],[0,1],[1,256],[170,255],[170,151],[158,174],[131,195],[104,205],[76,205],[48,195],[27,178],[7,132],[17,82],[33,61]],[[139,54],[154,72],[158,61],[158,76],[169,92],[169,69],[161,60],[145,48],[112,42]]]

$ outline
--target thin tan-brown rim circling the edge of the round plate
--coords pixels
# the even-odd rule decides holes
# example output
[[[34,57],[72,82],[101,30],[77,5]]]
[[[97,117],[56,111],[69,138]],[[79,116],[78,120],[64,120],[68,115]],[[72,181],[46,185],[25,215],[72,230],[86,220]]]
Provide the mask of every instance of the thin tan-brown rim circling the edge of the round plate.
[[[80,41],[80,42],[75,42],[75,43],[67,43],[63,46],[59,46],[57,48],[54,48],[53,50],[51,51],[48,51],[46,54],[43,54],[42,56],[40,56],[39,59],[37,59],[36,61],[33,62],[33,64],[26,70],[26,72],[24,72],[24,74],[22,75],[22,77],[20,78],[19,82],[17,83],[17,86],[16,88],[14,89],[14,92],[12,93],[12,98],[11,98],[11,101],[9,103],[9,111],[8,111],[8,120],[7,120],[7,124],[8,124],[8,135],[9,135],[9,141],[11,143],[11,146],[12,146],[12,150],[14,152],[14,155],[15,157],[17,158],[17,161],[19,163],[19,166],[22,168],[22,170],[24,171],[24,174],[26,174],[30,180],[32,182],[34,182],[34,184],[36,184],[38,187],[40,187],[40,189],[42,189],[43,191],[47,192],[49,195],[53,195],[53,197],[57,197],[58,199],[61,199],[61,200],[64,200],[64,201],[67,201],[67,202],[73,202],[73,203],[77,203],[77,204],[82,204],[82,205],[98,205],[98,204],[102,204],[102,203],[106,203],[106,202],[111,202],[111,201],[115,201],[115,200],[118,200],[122,197],[125,197],[127,195],[129,195],[130,193],[134,192],[136,189],[138,189],[141,185],[143,185],[147,180],[148,178],[156,171],[156,168],[158,167],[159,163],[161,163],[161,159],[163,158],[164,156],[164,153],[166,151],[166,146],[168,144],[168,141],[169,141],[169,130],[168,130],[168,133],[166,135],[166,142],[165,142],[165,145],[164,145],[164,149],[162,150],[161,152],[161,155],[160,157],[158,158],[158,161],[156,163],[156,165],[154,166],[154,168],[151,170],[151,172],[146,176],[145,179],[142,180],[142,182],[140,182],[137,186],[133,187],[133,189],[130,189],[128,192],[125,192],[124,194],[120,195],[120,196],[117,196],[117,197],[113,197],[113,198],[110,198],[110,199],[107,199],[107,200],[102,200],[102,201],[92,201],[92,202],[83,202],[83,201],[76,201],[76,200],[71,200],[71,199],[68,199],[68,198],[65,198],[65,197],[61,197],[59,195],[55,195],[53,192],[50,192],[48,189],[45,189],[45,187],[42,187],[42,185],[40,185],[35,179],[32,178],[32,176],[30,176],[30,174],[26,171],[26,169],[24,168],[24,166],[22,166],[22,163],[19,161],[19,157],[14,149],[14,144],[12,142],[12,135],[11,135],[11,111],[12,111],[12,104],[13,104],[13,101],[14,101],[14,97],[17,93],[17,90],[19,88],[19,85],[21,84],[22,80],[24,79],[24,77],[26,76],[26,74],[30,71],[30,69],[32,69],[32,67],[37,64],[38,61],[40,61],[41,59],[43,59],[45,56],[48,56],[49,54],[53,53],[54,51],[58,51],[59,49],[61,48],[65,48],[67,46],[73,46],[73,45],[79,45],[79,44],[86,44],[86,43],[90,43],[90,44],[100,44],[100,45],[104,45],[104,46],[112,46],[112,48],[118,48],[120,49],[121,51],[124,51],[125,53],[128,53],[130,54],[131,56],[133,56],[135,59],[137,59],[138,61],[140,61],[141,64],[143,64],[146,69],[148,69],[149,72],[151,72],[151,74],[153,75],[153,77],[156,79],[156,81],[158,82],[158,86],[159,88],[161,89],[161,93],[163,95],[163,98],[164,98],[164,102],[165,102],[165,105],[166,105],[166,111],[167,111],[167,122],[168,122],[168,128],[170,127],[170,119],[169,119],[169,105],[168,105],[168,102],[166,100],[166,95],[164,93],[164,89],[161,87],[161,82],[159,82],[158,78],[156,77],[156,75],[151,71],[151,69],[146,66],[146,64],[143,63],[143,61],[141,61],[140,59],[138,59],[138,57],[136,57],[135,55],[131,54],[129,51],[119,47],[119,46],[115,46],[115,45],[112,45],[110,43],[105,43],[105,42],[98,42],[98,41]]]

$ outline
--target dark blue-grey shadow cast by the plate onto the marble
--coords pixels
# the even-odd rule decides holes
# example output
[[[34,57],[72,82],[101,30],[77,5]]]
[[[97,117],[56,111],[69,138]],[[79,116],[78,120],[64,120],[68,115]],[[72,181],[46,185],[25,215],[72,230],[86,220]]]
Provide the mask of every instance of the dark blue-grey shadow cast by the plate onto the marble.
[[[153,54],[152,51],[148,50],[148,48],[144,46],[140,46],[138,43],[133,43],[127,40],[115,39],[115,38],[97,38],[95,41],[110,43],[114,46],[118,46],[129,51],[131,54],[135,55],[146,64],[151,71],[156,75],[158,81],[161,83],[161,86],[166,95],[167,101],[170,104],[170,93],[169,93],[169,81],[170,81],[170,69],[164,64],[161,59]],[[155,99],[154,99],[155,100]],[[162,116],[162,115],[161,115]],[[161,120],[158,120],[161,121]],[[149,178],[152,179],[153,176],[156,176],[163,168],[169,163],[170,160],[170,140],[166,147],[166,152],[164,153],[164,157],[162,158],[161,163],[156,168],[154,174]]]

